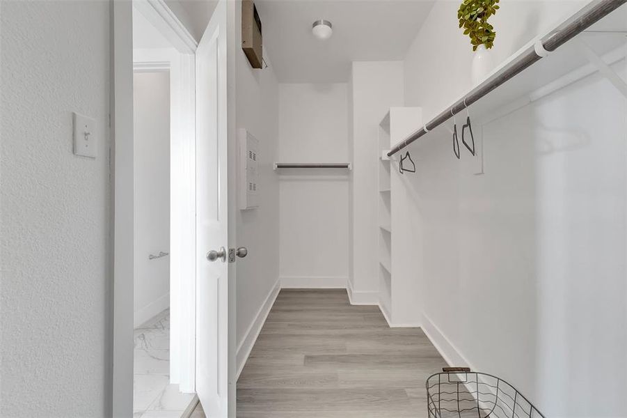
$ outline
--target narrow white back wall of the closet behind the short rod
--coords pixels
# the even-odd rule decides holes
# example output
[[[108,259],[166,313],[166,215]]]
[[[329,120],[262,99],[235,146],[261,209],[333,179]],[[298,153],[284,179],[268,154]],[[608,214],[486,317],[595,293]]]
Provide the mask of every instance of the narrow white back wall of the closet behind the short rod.
[[[280,162],[347,162],[347,84],[280,84]],[[283,287],[345,287],[349,189],[343,169],[282,169]]]

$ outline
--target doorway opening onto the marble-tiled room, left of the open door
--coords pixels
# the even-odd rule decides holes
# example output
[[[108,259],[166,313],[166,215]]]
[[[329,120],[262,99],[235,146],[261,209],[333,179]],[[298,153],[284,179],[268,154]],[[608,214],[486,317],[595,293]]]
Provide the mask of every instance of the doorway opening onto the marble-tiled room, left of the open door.
[[[194,149],[193,52],[176,47],[147,1],[134,2],[132,26],[133,412],[177,418],[198,403],[194,173],[186,164]]]

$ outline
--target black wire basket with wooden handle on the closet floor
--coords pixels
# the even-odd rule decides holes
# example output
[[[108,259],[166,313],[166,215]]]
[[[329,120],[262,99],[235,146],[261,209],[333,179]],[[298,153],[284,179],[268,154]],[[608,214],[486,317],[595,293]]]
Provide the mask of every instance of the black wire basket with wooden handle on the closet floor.
[[[427,379],[429,418],[544,418],[505,380],[467,367],[442,370]]]

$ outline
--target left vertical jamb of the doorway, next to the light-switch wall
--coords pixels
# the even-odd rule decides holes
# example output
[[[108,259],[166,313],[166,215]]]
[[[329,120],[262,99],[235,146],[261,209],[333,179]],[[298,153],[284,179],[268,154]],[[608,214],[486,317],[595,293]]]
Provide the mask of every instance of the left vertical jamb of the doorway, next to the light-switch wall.
[[[113,387],[111,415],[133,411],[134,173],[133,5],[111,1],[111,197],[113,199]]]

